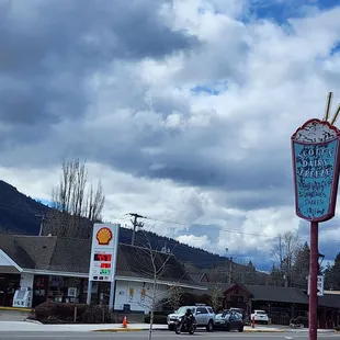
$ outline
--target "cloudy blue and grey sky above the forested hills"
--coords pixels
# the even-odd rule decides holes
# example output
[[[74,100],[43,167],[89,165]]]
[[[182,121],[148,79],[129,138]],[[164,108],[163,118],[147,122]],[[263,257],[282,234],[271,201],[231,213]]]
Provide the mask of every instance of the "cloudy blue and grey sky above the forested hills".
[[[337,3],[0,0],[0,178],[49,200],[60,158],[87,159],[106,220],[264,268],[277,233],[308,239],[290,138],[340,102]]]

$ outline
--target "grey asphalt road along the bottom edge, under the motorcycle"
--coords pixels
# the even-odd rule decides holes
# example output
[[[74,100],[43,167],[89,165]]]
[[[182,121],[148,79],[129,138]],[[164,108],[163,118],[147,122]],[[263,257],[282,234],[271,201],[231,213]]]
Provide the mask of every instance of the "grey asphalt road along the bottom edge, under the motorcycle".
[[[147,331],[140,332],[0,332],[1,340],[78,340],[78,339],[99,339],[99,340],[111,340],[111,339],[122,339],[122,340],[141,340],[147,339]],[[189,338],[188,338],[189,337]],[[152,340],[173,340],[173,339],[208,339],[208,340],[218,340],[218,339],[229,339],[229,340],[288,340],[288,339],[297,339],[297,340],[307,340],[308,333],[238,333],[238,332],[197,332],[193,336],[189,335],[175,335],[172,332],[165,331],[155,331],[152,335]],[[318,340],[332,340],[339,339],[339,333],[325,333],[319,335]]]

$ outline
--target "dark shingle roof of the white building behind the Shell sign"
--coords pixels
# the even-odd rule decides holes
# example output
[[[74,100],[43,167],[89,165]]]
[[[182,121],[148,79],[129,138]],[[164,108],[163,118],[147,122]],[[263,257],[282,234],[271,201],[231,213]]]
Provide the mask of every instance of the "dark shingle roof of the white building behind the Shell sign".
[[[23,269],[89,273],[89,239],[1,234],[0,249]],[[118,245],[117,275],[150,279],[154,273],[151,257],[158,270],[158,280],[194,285],[174,256],[123,243]],[[165,270],[161,270],[162,267]]]

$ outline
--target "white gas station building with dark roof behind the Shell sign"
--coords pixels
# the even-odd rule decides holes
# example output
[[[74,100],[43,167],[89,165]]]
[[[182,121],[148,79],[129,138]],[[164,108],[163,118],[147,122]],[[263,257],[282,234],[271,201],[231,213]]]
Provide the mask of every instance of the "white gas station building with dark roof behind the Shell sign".
[[[0,237],[0,306],[12,306],[20,287],[32,291],[30,306],[46,299],[63,303],[86,303],[91,256],[91,240],[57,237]],[[115,277],[115,310],[148,313],[155,270],[157,299],[167,298],[173,285],[188,291],[205,291],[193,282],[174,256],[149,249],[118,245]],[[161,269],[161,270],[160,270]],[[107,304],[109,282],[93,282],[93,303]]]

